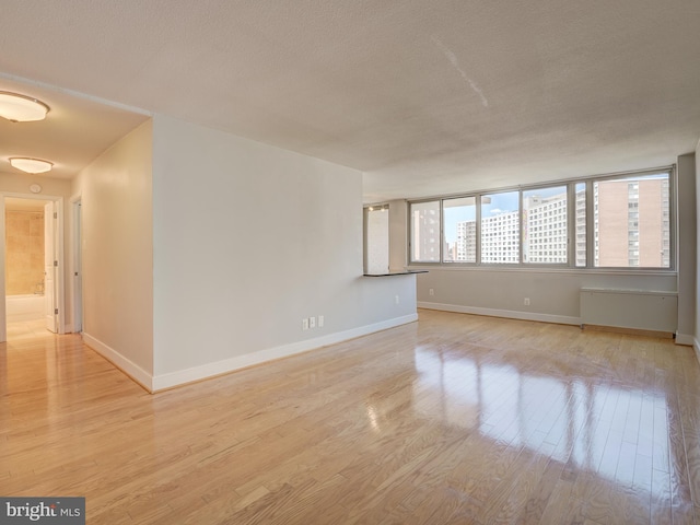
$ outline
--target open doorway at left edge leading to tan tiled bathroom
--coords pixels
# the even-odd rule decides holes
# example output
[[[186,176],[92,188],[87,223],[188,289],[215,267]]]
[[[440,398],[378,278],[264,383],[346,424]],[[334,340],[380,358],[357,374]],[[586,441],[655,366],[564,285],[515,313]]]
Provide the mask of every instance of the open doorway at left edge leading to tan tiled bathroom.
[[[0,340],[62,332],[61,199],[2,198]]]

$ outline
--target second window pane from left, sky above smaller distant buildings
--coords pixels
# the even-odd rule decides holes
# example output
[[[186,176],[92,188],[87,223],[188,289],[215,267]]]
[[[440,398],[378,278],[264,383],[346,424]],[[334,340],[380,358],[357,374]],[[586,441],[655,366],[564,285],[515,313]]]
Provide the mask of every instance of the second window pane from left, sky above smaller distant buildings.
[[[477,261],[477,199],[443,200],[443,262]]]

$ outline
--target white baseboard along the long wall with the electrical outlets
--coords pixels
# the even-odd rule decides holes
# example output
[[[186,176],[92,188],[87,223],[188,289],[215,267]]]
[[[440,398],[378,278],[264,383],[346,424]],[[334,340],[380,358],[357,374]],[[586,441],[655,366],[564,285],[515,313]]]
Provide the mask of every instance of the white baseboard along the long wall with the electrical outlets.
[[[153,376],[152,392],[172,388],[174,386],[192,383],[195,381],[201,381],[207,377],[213,377],[215,375],[226,374],[236,370],[252,366],[254,364],[260,364],[266,361],[287,358],[290,355],[294,355],[295,353],[306,352],[308,350],[326,347],[328,345],[347,341],[349,339],[354,339],[355,337],[366,336],[375,331],[406,325],[415,320],[418,320],[418,314],[405,315],[402,317],[396,317],[393,319],[384,320],[382,323],[375,323],[373,325],[361,326],[351,330],[338,331],[336,334],[329,334],[327,336],[316,337],[314,339],[306,339],[304,341],[292,342],[290,345],[282,345],[281,347],[268,348],[266,350],[236,355],[235,358],[224,359],[222,361],[217,361],[213,363],[192,366],[191,369],[178,370],[176,372],[170,372],[166,374],[159,374]]]

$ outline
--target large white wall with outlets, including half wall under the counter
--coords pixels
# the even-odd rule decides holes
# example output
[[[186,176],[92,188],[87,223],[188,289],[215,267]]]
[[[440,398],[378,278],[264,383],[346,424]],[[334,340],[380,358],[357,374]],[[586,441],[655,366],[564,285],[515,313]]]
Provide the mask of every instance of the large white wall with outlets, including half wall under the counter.
[[[416,318],[413,276],[361,277],[360,172],[160,115],[153,138],[154,388]]]

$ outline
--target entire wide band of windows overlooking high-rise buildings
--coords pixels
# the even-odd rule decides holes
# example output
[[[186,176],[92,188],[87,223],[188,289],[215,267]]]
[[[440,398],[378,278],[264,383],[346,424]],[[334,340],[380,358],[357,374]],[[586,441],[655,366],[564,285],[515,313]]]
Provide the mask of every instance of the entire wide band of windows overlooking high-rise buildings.
[[[411,202],[410,262],[670,269],[672,173]]]

